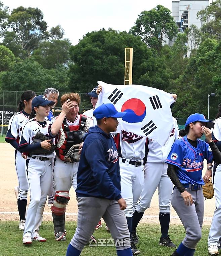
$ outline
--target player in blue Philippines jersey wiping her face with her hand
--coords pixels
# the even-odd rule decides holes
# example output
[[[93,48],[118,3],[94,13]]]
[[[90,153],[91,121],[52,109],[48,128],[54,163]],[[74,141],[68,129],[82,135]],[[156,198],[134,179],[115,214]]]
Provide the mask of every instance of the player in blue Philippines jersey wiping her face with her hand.
[[[210,128],[213,122],[202,114],[190,115],[182,138],[173,143],[167,157],[167,174],[175,185],[171,204],[179,216],[186,236],[172,256],[194,255],[197,243],[202,236],[204,217],[204,185],[202,170],[204,159],[221,164],[221,153],[212,140]],[[207,142],[199,139],[205,134]]]

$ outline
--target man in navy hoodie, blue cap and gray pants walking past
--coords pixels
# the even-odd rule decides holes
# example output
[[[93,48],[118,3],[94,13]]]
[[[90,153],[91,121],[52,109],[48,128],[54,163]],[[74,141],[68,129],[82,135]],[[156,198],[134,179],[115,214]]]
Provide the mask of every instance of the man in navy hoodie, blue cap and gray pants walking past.
[[[78,256],[88,244],[102,217],[115,240],[118,256],[132,256],[130,233],[121,197],[119,156],[110,132],[117,130],[117,118],[125,115],[113,104],[102,104],[93,115],[95,127],[89,128],[77,175],[78,224],[66,256]]]

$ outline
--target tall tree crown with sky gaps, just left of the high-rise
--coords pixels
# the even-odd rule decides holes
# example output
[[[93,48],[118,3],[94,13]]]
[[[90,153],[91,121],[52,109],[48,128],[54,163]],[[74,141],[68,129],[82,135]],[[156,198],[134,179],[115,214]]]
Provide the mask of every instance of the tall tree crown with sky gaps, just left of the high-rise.
[[[157,5],[152,10],[142,11],[129,33],[140,36],[147,46],[159,51],[162,43],[165,42],[164,37],[171,40],[176,36],[177,26],[171,11],[162,5]]]

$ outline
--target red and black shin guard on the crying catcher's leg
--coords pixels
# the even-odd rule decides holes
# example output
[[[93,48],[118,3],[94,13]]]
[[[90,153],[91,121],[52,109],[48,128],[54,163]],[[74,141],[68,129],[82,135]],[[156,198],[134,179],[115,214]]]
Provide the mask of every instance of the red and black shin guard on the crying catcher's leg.
[[[66,205],[70,200],[68,191],[56,191],[53,206],[51,206],[54,232],[64,232]]]

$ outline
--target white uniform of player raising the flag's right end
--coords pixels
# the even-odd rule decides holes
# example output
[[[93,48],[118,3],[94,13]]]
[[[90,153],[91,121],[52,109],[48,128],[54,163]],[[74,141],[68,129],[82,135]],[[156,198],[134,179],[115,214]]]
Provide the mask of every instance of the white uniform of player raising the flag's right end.
[[[137,203],[136,211],[143,213],[150,207],[152,196],[158,188],[159,208],[162,213],[170,213],[171,194],[173,183],[167,175],[166,158],[173,142],[178,139],[179,129],[174,118],[174,127],[165,146],[148,138],[146,147],[147,160],[144,166],[144,185],[141,197]]]

